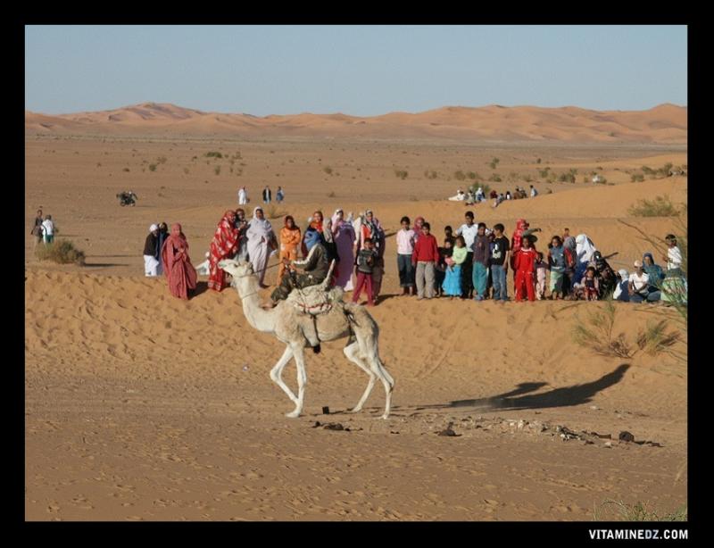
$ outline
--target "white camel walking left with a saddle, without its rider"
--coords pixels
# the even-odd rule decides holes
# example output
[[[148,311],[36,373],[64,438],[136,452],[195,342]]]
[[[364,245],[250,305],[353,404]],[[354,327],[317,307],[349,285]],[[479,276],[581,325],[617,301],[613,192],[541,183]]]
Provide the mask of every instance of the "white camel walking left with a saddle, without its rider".
[[[295,419],[303,412],[305,384],[304,349],[308,346],[315,347],[320,341],[334,341],[348,337],[347,345],[343,349],[348,360],[353,361],[360,369],[369,375],[367,388],[364,390],[360,401],[350,412],[361,411],[372,391],[375,380],[382,381],[385,388],[386,403],[382,419],[389,417],[394,390],[394,378],[389,375],[378,353],[379,328],[377,322],[369,312],[359,304],[333,303],[332,309],[326,313],[311,317],[309,314],[297,311],[292,303],[280,301],[270,311],[263,310],[258,296],[258,277],[253,273],[250,262],[239,262],[226,259],[219,262],[219,267],[233,277],[231,286],[237,290],[238,297],[243,303],[243,313],[248,323],[262,333],[270,333],[285,343],[286,349],[278,363],[270,369],[270,379],[287,394],[295,403],[295,410],[286,413],[286,417]],[[314,339],[315,334],[318,340]],[[283,382],[282,373],[290,358],[295,358],[297,367],[297,396]]]

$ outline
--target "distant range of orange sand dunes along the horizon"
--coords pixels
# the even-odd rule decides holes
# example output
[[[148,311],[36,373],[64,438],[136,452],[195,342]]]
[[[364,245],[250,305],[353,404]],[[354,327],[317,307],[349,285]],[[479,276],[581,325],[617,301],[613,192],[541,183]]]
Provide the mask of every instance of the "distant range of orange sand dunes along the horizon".
[[[271,115],[201,112],[173,104],[145,103],[112,111],[62,114],[75,124],[40,125],[26,112],[26,132],[119,135],[217,135],[307,137],[460,138],[494,141],[686,143],[687,109],[662,104],[648,111],[598,112],[577,107],[444,107],[355,117],[343,113]]]

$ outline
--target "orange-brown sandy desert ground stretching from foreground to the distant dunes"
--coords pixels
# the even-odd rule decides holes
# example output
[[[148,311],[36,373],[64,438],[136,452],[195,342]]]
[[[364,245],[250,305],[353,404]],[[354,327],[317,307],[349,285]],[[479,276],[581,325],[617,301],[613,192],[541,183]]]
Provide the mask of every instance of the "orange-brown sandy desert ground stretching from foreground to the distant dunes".
[[[686,203],[687,179],[631,183],[630,172],[685,164],[683,142],[28,131],[26,519],[591,520],[609,499],[676,510],[687,502],[683,361],[642,351],[606,357],[576,345],[573,325],[598,303],[397,296],[393,234],[403,214],[425,216],[440,238],[444,225],[460,225],[467,208],[444,199],[472,182],[455,179],[458,170],[498,173],[503,182],[488,184],[503,191],[524,185],[506,182],[511,172],[528,174],[539,196],[469,208],[477,220],[500,221],[510,236],[525,217],[543,228],[542,246],[564,227],[585,232],[603,253],[618,252],[613,267],[631,270],[650,246],[619,220],[655,237],[676,231],[671,218],[632,218],[628,209],[656,195]],[[211,151],[224,158],[206,157]],[[577,182],[544,182],[538,170],[546,165],[577,169]],[[584,183],[593,171],[609,184]],[[285,203],[266,208],[276,228],[285,213],[304,226],[315,209],[329,215],[336,207],[369,207],[386,227],[383,299],[370,313],[396,380],[390,419],[378,419],[381,386],[364,411],[345,412],[367,378],[340,343],[307,356],[304,414],[286,419],[293,405],[268,376],[283,346],[250,328],[235,290],[206,291],[202,277],[198,295],[182,302],[163,278],[143,276],[151,223],[181,222],[194,264],[202,262],[244,185],[251,209],[265,185],[286,189]],[[139,200],[122,208],[115,195],[128,189]],[[56,220],[56,237],[87,253],[87,266],[37,262],[29,228],[38,206]],[[638,330],[667,314],[618,303],[615,332],[636,349]],[[677,326],[672,316],[670,329]],[[683,336],[673,350],[685,353],[685,343]],[[285,378],[295,389],[292,363]],[[437,436],[450,422],[458,436]],[[652,444],[619,442],[623,430]]]

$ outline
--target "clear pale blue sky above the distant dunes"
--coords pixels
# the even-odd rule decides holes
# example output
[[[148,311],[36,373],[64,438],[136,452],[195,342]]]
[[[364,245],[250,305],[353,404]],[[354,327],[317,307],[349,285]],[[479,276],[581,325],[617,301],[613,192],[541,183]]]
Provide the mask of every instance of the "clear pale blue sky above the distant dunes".
[[[28,26],[25,108],[257,116],[687,103],[685,26]]]

